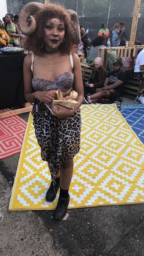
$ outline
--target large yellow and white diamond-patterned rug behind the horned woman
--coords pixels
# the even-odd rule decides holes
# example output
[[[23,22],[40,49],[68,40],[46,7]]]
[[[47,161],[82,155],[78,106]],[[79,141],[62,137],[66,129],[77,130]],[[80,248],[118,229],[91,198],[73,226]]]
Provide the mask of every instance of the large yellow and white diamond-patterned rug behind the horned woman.
[[[114,104],[83,105],[81,114],[68,208],[144,203],[143,144],[131,126]],[[9,210],[53,210],[57,199],[45,200],[50,180],[30,114]]]

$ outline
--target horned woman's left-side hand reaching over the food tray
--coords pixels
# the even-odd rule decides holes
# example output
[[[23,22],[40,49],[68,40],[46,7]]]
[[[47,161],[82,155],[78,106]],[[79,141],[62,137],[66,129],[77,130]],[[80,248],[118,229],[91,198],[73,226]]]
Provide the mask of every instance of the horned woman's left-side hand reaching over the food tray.
[[[34,93],[34,97],[43,103],[51,104],[52,100],[56,100],[56,90],[38,91]]]

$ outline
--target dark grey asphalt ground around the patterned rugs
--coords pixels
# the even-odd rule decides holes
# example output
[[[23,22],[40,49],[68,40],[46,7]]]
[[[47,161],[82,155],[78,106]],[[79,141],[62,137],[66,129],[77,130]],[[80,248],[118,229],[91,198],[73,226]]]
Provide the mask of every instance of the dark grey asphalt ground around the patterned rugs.
[[[68,210],[60,222],[52,220],[52,211],[9,212],[19,156],[0,161],[1,256],[144,255],[144,204]]]

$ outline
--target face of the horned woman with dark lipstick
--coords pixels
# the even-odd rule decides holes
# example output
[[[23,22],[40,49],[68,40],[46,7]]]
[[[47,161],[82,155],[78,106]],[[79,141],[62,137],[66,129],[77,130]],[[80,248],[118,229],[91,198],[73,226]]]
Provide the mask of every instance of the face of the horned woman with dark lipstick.
[[[51,18],[46,21],[43,40],[47,50],[58,49],[65,37],[65,25],[59,18]]]

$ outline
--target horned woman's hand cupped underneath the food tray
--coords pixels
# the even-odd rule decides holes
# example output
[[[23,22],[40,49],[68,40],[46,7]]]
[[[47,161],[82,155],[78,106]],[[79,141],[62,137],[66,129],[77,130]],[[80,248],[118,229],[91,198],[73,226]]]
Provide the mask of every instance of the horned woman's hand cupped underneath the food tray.
[[[54,105],[51,110],[59,119],[65,119],[70,116],[70,109],[60,106],[59,104]]]

